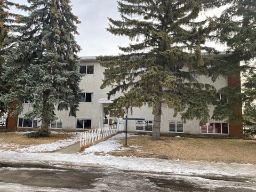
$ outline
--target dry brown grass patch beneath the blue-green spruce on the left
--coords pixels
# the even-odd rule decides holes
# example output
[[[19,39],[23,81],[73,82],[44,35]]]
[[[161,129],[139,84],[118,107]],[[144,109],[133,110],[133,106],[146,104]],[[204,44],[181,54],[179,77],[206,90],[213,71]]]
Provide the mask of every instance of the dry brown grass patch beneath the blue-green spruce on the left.
[[[24,133],[7,132],[5,135],[4,132],[0,132],[0,143],[13,143],[20,146],[29,146],[55,142],[70,137],[72,137],[71,134],[51,133],[50,137],[46,138],[28,138]]]

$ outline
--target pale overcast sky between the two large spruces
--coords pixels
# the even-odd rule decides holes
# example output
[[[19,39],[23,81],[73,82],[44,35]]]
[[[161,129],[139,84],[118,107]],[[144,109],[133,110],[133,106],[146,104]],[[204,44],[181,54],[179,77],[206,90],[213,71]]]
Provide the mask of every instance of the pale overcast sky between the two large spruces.
[[[12,0],[27,4],[27,0]],[[117,55],[121,53],[118,46],[128,45],[127,37],[109,33],[108,17],[120,18],[116,0],[71,0],[73,14],[82,22],[77,25],[79,35],[77,43],[82,47],[79,56]]]

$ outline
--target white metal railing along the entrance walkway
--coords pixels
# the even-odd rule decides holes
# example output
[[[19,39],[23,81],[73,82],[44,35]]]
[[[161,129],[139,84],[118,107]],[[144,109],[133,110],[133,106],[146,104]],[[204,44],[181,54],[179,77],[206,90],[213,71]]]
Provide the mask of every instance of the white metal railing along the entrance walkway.
[[[89,147],[91,145],[94,145],[96,141],[110,137],[111,135],[116,134],[117,131],[117,126],[115,124],[82,132],[80,138],[80,147]]]

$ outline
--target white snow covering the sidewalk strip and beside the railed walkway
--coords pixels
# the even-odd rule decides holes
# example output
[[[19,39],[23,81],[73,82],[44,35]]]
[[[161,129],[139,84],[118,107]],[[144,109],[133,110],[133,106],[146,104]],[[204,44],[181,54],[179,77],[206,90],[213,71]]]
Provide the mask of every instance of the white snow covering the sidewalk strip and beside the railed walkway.
[[[129,135],[130,136],[130,135]],[[79,134],[72,139],[57,141],[49,144],[27,146],[19,151],[0,150],[0,163],[41,163],[54,166],[72,166],[81,169],[86,166],[115,167],[121,170],[141,172],[155,172],[179,175],[219,175],[220,177],[238,176],[256,178],[255,164],[226,164],[207,162],[188,162],[153,158],[116,157],[106,154],[113,150],[125,150],[117,140],[124,137],[124,133],[117,134],[106,141],[85,149],[82,153],[42,153],[54,151],[61,147],[72,145],[79,141]],[[129,142],[129,140],[128,140]],[[37,153],[41,152],[41,153]],[[99,152],[102,155],[95,155]]]

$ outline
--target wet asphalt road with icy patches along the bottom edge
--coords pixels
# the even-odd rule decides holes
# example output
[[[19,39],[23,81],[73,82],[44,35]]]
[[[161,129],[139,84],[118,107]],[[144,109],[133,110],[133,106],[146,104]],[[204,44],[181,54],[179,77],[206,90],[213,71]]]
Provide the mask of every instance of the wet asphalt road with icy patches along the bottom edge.
[[[143,173],[104,167],[1,167],[0,191],[251,192],[256,191],[256,181],[255,178]]]

